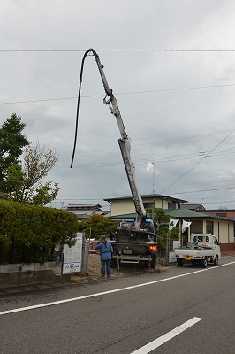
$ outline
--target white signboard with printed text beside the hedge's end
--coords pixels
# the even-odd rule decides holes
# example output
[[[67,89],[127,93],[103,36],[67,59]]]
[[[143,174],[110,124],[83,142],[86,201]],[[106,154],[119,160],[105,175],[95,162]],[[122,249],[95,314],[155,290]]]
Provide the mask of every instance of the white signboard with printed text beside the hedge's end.
[[[82,255],[82,239],[83,234],[77,233],[76,243],[69,247],[64,244],[64,262],[62,273],[81,272],[81,255]]]

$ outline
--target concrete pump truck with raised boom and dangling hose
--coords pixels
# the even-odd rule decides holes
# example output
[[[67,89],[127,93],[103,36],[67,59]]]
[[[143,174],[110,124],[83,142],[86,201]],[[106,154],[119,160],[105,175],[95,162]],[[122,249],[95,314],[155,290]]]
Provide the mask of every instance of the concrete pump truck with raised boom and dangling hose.
[[[130,138],[126,134],[125,126],[121,113],[119,111],[117,100],[113,95],[112,89],[110,89],[108,81],[103,72],[103,65],[101,64],[100,58],[94,49],[88,49],[81,62],[80,70],[80,87],[78,95],[78,105],[77,105],[77,117],[76,117],[76,127],[75,127],[75,138],[72,152],[72,162],[76,149],[77,141],[77,130],[78,130],[78,117],[80,108],[80,90],[82,83],[82,73],[85,58],[89,53],[94,55],[98,70],[102,78],[102,84],[105,91],[105,96],[103,98],[103,104],[106,104],[110,108],[111,114],[117,120],[117,126],[121,137],[118,139],[118,145],[121,151],[123,162],[125,165],[125,172],[127,179],[129,181],[129,186],[133,196],[133,204],[136,211],[136,218],[130,224],[128,222],[121,222],[120,227],[117,228],[117,233],[114,239],[110,240],[113,246],[113,258],[111,260],[112,266],[120,267],[121,263],[132,263],[139,264],[144,262],[144,266],[149,268],[155,268],[156,262],[156,252],[157,252],[157,236],[155,235],[155,228],[153,223],[149,223],[147,220],[146,211],[140,196],[140,190],[137,185],[134,166],[131,159],[131,144]]]

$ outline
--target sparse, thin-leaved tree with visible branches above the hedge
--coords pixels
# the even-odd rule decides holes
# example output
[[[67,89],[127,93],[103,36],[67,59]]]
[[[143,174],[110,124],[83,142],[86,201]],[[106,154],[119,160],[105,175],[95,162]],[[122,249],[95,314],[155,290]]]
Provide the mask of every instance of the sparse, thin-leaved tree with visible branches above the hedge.
[[[57,155],[37,142],[29,144],[23,153],[22,165],[11,164],[4,170],[2,191],[7,199],[17,202],[45,205],[57,197],[59,187],[52,181],[42,182],[57,163]]]

